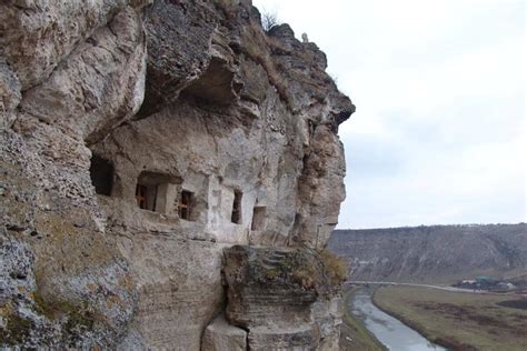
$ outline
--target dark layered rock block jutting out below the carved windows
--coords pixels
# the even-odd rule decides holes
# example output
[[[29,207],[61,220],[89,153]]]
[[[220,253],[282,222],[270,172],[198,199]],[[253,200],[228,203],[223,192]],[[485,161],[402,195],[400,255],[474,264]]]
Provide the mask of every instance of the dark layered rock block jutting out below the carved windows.
[[[227,319],[248,330],[249,350],[331,350],[340,297],[317,251],[235,245],[223,252]]]

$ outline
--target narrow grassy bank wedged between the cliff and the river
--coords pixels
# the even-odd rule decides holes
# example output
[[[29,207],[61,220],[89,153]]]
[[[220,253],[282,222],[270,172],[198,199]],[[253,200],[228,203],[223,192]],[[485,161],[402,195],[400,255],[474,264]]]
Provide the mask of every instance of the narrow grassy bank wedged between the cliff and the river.
[[[351,288],[344,295],[344,315],[340,328],[340,350],[385,351],[387,350],[352,313],[352,299],[360,288]]]

